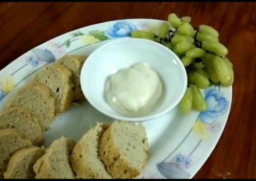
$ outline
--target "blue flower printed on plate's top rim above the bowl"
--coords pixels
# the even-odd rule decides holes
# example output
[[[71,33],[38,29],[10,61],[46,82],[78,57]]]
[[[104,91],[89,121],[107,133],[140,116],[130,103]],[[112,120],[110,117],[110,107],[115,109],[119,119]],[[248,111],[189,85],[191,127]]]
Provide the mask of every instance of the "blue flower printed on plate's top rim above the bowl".
[[[126,37],[131,36],[133,30],[143,30],[143,28],[128,21],[118,21],[114,26],[109,27],[105,35],[110,39]]]

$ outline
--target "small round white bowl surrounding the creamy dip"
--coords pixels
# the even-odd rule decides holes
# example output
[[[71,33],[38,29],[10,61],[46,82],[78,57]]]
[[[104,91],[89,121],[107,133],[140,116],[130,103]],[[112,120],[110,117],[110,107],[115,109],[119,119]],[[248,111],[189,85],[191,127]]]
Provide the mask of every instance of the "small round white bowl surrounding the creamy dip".
[[[110,75],[138,62],[146,62],[157,72],[163,94],[151,113],[140,117],[121,115],[105,98],[105,83]],[[105,44],[88,56],[81,70],[81,87],[88,102],[99,112],[123,121],[146,121],[172,110],[187,87],[187,74],[181,60],[165,46],[146,39],[119,38]]]

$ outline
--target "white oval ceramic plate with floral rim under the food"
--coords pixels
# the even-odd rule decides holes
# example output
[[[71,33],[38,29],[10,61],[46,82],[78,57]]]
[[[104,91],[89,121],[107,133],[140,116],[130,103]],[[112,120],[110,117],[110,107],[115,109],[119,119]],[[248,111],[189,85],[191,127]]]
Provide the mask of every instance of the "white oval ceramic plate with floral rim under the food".
[[[87,26],[58,36],[18,57],[0,71],[0,110],[17,90],[28,84],[33,74],[64,54],[87,55],[115,38],[131,35],[135,29],[157,31],[163,21],[130,19]],[[206,22],[207,23],[207,22]],[[182,115],[171,112],[143,122],[149,140],[149,158],[137,178],[192,178],[207,160],[227,122],[232,87],[212,85],[203,90],[206,112]],[[62,135],[76,141],[96,124],[113,121],[95,110],[87,101],[73,106],[51,124],[44,133],[48,147]]]

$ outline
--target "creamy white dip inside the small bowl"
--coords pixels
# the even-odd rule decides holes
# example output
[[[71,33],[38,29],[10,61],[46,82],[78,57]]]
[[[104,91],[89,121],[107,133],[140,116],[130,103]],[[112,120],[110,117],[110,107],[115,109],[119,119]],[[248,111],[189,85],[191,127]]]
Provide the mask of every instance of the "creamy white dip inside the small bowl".
[[[120,114],[142,115],[155,106],[162,89],[158,74],[147,63],[139,62],[107,80],[105,97],[108,104]]]

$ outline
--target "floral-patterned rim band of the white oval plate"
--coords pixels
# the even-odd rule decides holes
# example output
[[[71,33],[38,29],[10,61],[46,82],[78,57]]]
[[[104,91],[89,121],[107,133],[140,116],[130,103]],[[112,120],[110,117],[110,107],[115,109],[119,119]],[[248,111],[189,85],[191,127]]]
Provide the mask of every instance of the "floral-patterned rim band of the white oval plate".
[[[129,37],[131,36],[131,32],[133,30],[145,29],[148,31],[154,31],[156,27],[151,26],[152,21],[157,21],[157,23],[160,23],[160,20],[134,20],[131,22],[130,20],[122,20],[107,22],[106,24],[108,26],[104,26],[104,28],[101,30],[99,30],[100,26],[96,26],[97,28],[95,29],[87,29],[87,27],[84,27],[82,29],[73,31],[72,33],[61,35],[64,38],[55,38],[46,42],[44,45],[42,44],[32,49],[26,53],[26,55],[22,56],[20,59],[17,59],[20,61],[20,64],[18,64],[19,66],[15,66],[15,69],[12,69],[12,67],[9,68],[11,69],[10,75],[1,77],[0,101],[27,76],[31,75],[33,72],[37,71],[48,63],[55,62],[61,56],[78,50],[79,48],[96,44],[97,42],[108,39]],[[28,75],[22,75],[25,77],[24,79],[15,81],[15,77],[17,78],[20,76],[18,72],[23,69],[27,70]],[[227,90],[228,88],[225,87],[223,89]],[[205,157],[201,157],[201,155],[197,155],[198,157],[195,157],[192,155],[192,153],[200,148],[200,144],[210,142],[212,142],[212,145],[215,144],[213,138],[219,139],[221,130],[226,124],[227,119],[222,117],[227,117],[232,98],[229,94],[227,94],[227,92],[228,91],[226,91],[225,94],[224,92],[220,91],[219,85],[212,85],[205,89],[204,95],[207,102],[207,110],[199,113],[198,119],[194,120],[195,123],[193,123],[194,125],[190,132],[187,133],[187,136],[177,146],[177,148],[175,148],[172,152],[170,150],[167,158],[156,160],[157,163],[154,163],[155,169],[145,170],[140,178],[190,178],[193,176],[195,171],[191,171],[190,168],[200,168],[202,166],[202,161],[199,162],[199,160],[202,160]],[[230,100],[227,99],[228,97]],[[193,139],[197,138],[197,140],[193,140],[193,142],[190,143],[192,145],[192,152],[187,152],[187,150],[184,149],[186,148],[186,146],[184,146],[184,142],[191,137],[193,137]]]

